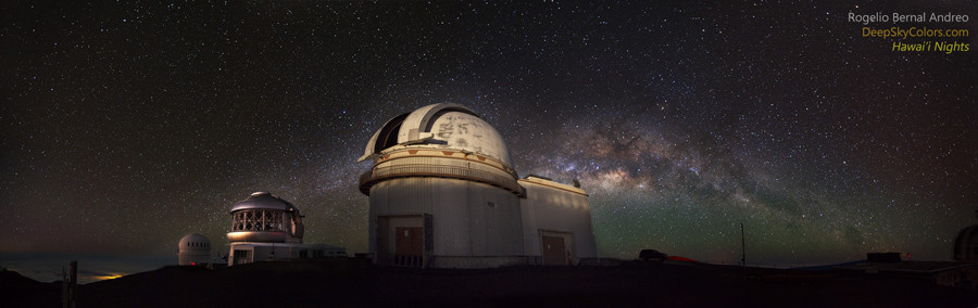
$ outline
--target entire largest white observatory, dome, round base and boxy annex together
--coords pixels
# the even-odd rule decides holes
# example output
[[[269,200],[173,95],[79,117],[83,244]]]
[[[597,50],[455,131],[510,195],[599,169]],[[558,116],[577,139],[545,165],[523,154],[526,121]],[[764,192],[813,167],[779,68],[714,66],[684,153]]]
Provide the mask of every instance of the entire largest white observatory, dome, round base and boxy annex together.
[[[359,162],[378,265],[489,268],[595,258],[588,195],[518,179],[499,132],[474,111],[434,104],[388,120]]]

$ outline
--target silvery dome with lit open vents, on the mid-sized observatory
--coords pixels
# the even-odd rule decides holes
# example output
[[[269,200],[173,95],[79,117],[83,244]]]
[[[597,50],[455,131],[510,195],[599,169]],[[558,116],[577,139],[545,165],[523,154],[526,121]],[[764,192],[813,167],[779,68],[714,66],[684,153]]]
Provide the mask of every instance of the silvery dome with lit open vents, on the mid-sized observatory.
[[[299,208],[272,193],[256,192],[236,202],[227,240],[231,242],[302,243]]]

